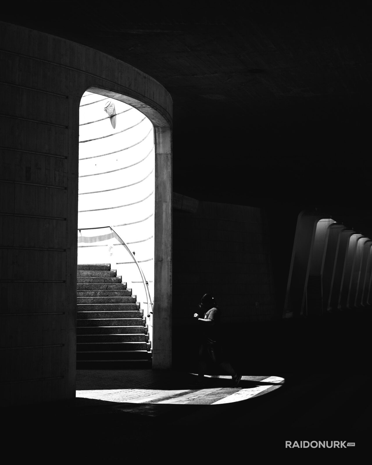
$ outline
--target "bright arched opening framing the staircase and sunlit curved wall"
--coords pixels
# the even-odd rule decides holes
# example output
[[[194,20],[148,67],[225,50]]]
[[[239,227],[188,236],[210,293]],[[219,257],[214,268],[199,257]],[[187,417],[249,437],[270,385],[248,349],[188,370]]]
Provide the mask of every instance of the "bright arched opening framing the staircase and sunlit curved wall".
[[[77,367],[151,366],[153,124],[93,92],[79,114]]]

